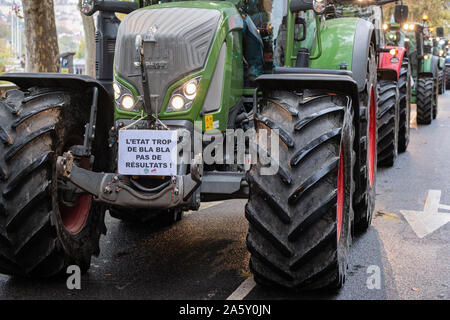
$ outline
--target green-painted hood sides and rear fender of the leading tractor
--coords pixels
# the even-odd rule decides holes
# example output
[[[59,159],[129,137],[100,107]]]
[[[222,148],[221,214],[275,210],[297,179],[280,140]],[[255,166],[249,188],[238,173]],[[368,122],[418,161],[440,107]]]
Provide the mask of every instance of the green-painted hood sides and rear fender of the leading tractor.
[[[286,0],[286,5],[289,6]],[[228,114],[233,106],[239,103],[243,96],[253,94],[253,88],[244,87],[244,64],[243,64],[243,35],[242,28],[230,26],[233,19],[241,19],[245,13],[240,12],[234,3],[237,1],[177,1],[156,4],[139,10],[160,10],[170,8],[197,8],[217,10],[221,19],[217,28],[213,43],[208,52],[204,68],[192,74],[187,74],[170,84],[158,112],[160,120],[189,120],[193,123],[202,121],[202,129],[205,130],[205,116],[212,116],[218,126],[215,129],[225,131],[228,124]],[[347,70],[352,71],[354,42],[358,18],[344,17],[325,20],[314,15],[312,11],[304,13],[307,20],[307,33],[304,41],[295,41],[294,13],[288,10],[286,26],[286,44],[284,45],[284,66],[293,67],[296,63],[296,53],[300,47],[308,48],[311,52],[310,67],[318,69],[337,70],[342,64]],[[319,26],[319,29],[317,29]],[[203,113],[203,106],[211,85],[211,80],[219,60],[222,46],[226,46],[226,57],[223,72],[223,82],[219,108],[211,113]],[[131,62],[130,62],[131,63]],[[198,93],[192,106],[183,111],[168,112],[167,106],[174,90],[195,77],[201,76]],[[135,100],[142,95],[138,89],[129,82],[114,73],[115,81],[130,89]],[[151,79],[149,79],[151,82]],[[143,106],[135,111],[125,111],[115,102],[115,121],[119,119],[138,119],[146,116]],[[156,114],[153,114],[156,116]]]

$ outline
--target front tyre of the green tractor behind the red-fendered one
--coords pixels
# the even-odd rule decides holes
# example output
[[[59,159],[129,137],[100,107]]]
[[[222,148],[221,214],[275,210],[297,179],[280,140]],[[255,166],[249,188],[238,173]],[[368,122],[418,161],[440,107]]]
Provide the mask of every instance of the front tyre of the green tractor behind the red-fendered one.
[[[431,77],[417,81],[417,123],[431,124],[434,119],[435,81]]]

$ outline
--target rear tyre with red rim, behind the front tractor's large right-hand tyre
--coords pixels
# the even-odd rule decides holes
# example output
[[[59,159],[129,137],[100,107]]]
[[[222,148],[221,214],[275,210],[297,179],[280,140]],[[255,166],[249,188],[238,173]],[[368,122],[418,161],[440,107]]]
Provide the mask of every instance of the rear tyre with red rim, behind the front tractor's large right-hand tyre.
[[[354,195],[354,232],[365,232],[372,223],[375,210],[377,148],[378,148],[378,98],[377,64],[374,45],[367,59],[367,81],[364,92],[360,93],[360,163],[356,166],[359,176],[359,189]]]

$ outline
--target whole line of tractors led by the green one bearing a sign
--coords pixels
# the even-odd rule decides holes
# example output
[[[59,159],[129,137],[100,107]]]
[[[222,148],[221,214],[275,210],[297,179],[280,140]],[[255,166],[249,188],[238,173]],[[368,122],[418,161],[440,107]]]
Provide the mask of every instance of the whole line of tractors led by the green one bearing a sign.
[[[393,2],[83,0],[96,79],[0,76],[18,87],[0,99],[0,273],[87,271],[107,210],[168,225],[241,198],[257,283],[340,288],[377,164],[406,151],[411,102],[431,123],[445,90],[443,35],[403,4],[383,24]]]

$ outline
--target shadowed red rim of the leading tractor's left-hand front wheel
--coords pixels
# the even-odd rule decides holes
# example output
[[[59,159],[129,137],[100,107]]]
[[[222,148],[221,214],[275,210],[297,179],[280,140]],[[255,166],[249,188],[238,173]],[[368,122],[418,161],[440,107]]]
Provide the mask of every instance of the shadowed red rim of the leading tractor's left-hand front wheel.
[[[79,165],[83,169],[89,169],[89,158],[81,159]],[[80,196],[75,206],[68,207],[59,203],[61,221],[69,233],[77,234],[83,229],[89,216],[91,204],[92,196],[89,194]]]

